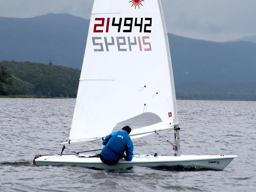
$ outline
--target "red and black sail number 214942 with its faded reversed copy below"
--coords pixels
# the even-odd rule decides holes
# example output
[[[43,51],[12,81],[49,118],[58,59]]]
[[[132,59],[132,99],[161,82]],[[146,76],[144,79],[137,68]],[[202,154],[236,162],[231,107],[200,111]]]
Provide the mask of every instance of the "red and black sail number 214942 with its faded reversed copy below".
[[[116,36],[101,37],[100,33],[108,33],[110,27],[116,28],[116,32],[132,33],[138,32],[151,33],[152,18],[95,18],[93,33],[97,36],[92,37],[94,51],[111,51],[110,46],[117,46],[118,51],[152,51],[150,36]],[[119,21],[118,21],[119,20]],[[100,21],[100,22],[99,22]],[[134,21],[134,22],[133,22]],[[122,30],[121,30],[122,28]],[[113,31],[112,31],[113,32]],[[105,46],[103,46],[103,44]]]

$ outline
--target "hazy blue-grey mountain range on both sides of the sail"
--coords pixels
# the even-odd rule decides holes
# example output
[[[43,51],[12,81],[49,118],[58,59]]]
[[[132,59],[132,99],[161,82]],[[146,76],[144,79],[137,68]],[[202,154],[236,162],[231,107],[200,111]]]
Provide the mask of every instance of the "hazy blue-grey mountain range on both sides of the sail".
[[[81,69],[90,21],[69,14],[0,17],[0,60]],[[176,92],[256,92],[256,44],[213,42],[168,33]],[[246,39],[245,39],[246,40]]]

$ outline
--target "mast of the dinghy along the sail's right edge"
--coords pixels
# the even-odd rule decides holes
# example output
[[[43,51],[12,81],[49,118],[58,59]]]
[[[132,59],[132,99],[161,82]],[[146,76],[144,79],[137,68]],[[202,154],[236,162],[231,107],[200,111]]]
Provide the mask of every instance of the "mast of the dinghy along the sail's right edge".
[[[165,21],[164,21],[164,12],[163,12],[163,9],[162,9],[161,0],[158,0],[158,5],[159,5],[160,13],[161,13],[161,19],[162,19],[162,24],[163,24],[163,29],[164,29],[165,46],[166,46],[166,51],[167,51],[167,56],[168,56],[170,80],[171,80],[171,89],[172,89],[172,94],[173,94],[173,98],[174,98],[172,100],[172,102],[173,102],[174,110],[177,112],[176,95],[175,95],[174,80],[173,80],[173,73],[172,73],[172,60],[171,60],[169,41],[168,41],[168,35],[167,35],[167,30],[166,30]],[[178,153],[177,155],[180,156],[180,133],[179,133],[180,128],[179,128],[179,124],[174,124],[174,131],[176,132],[176,138],[177,138],[177,153]]]

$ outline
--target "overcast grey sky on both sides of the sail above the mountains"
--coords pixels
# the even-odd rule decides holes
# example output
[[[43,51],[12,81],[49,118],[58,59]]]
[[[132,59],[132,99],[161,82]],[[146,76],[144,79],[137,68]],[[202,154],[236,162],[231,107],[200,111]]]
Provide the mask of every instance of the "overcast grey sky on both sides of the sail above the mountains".
[[[0,0],[0,16],[68,13],[89,19],[92,4],[91,0]],[[162,6],[169,33],[211,41],[256,34],[256,0],[162,0]]]

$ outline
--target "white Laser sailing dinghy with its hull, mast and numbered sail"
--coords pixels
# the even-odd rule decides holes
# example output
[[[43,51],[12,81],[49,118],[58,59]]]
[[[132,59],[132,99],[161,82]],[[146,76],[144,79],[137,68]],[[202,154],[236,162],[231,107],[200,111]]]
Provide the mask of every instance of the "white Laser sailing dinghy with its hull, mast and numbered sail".
[[[65,145],[101,142],[125,125],[131,139],[174,130],[175,156],[134,155],[114,166],[95,154],[63,154]],[[161,2],[95,0],[69,139],[61,154],[36,155],[36,165],[100,169],[185,166],[223,170],[236,155],[181,155],[172,63]]]

